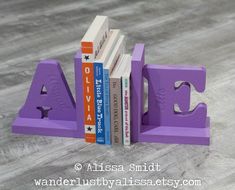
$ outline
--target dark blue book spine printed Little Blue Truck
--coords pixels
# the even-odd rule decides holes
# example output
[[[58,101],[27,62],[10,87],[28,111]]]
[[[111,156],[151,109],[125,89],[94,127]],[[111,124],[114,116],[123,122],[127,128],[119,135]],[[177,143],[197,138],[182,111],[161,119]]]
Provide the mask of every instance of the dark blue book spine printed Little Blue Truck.
[[[102,63],[94,63],[94,91],[96,112],[96,143],[105,144]]]

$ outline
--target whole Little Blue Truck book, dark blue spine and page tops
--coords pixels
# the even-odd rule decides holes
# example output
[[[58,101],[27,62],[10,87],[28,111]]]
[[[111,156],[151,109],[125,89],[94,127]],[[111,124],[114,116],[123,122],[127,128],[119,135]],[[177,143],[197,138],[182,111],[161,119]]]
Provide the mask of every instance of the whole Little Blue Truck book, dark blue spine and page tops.
[[[96,143],[105,144],[103,65],[108,61],[118,41],[120,30],[110,30],[97,58],[94,61],[94,92],[96,110]]]

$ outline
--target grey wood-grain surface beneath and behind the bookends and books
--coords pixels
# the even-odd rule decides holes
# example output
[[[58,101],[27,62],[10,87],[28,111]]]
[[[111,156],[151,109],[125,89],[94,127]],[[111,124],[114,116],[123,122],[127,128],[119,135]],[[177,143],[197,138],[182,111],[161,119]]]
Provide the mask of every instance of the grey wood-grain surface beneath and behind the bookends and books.
[[[191,109],[208,104],[211,145],[137,143],[130,147],[88,144],[81,139],[11,133],[36,63],[60,60],[74,92],[73,55],[97,14],[112,28],[146,45],[146,63],[204,65],[207,89],[192,93]],[[0,189],[28,190],[38,178],[201,179],[201,187],[235,189],[235,1],[234,0],[1,0],[0,1]],[[159,163],[161,172],[75,172],[75,163]],[[122,189],[114,187],[113,189]],[[45,187],[42,189],[53,189]],[[105,189],[66,187],[54,189]],[[173,189],[126,187],[125,189]]]

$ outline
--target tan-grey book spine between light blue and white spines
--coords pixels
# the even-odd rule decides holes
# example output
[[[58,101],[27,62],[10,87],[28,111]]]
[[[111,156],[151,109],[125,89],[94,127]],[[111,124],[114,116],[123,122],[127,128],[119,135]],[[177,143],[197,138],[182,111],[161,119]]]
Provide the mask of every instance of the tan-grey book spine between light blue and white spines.
[[[122,99],[120,79],[110,79],[112,144],[122,144]]]

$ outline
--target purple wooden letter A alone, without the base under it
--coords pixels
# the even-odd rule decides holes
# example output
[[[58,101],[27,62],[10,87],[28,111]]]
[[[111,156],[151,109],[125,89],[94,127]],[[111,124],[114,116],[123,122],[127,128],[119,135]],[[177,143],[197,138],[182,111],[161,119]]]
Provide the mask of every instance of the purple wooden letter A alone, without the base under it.
[[[74,121],[76,117],[75,101],[56,60],[45,60],[38,64],[19,116],[39,119],[44,117],[42,109],[49,109],[48,119]]]

